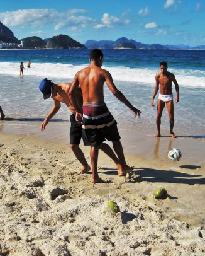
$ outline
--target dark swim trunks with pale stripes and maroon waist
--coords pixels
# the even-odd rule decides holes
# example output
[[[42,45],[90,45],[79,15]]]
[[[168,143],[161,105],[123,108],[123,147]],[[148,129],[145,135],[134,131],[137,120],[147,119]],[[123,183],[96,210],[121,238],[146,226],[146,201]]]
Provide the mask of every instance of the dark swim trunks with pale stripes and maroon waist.
[[[86,103],[82,109],[82,139],[85,146],[99,146],[106,139],[120,140],[117,122],[104,102]]]

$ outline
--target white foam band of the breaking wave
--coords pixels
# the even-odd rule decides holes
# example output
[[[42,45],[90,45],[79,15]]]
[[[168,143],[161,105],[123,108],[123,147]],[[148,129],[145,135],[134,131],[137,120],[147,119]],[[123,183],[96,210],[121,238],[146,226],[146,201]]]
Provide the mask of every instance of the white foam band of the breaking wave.
[[[77,71],[87,65],[73,66],[61,63],[32,63],[31,68],[25,66],[25,76],[47,77],[48,79],[62,78],[72,81]],[[113,76],[114,81],[155,84],[155,74],[159,71],[148,68],[130,67],[102,67]],[[205,87],[205,72],[192,69],[169,69],[175,74],[179,85],[192,87]],[[19,76],[19,64],[13,62],[0,62],[0,74]]]

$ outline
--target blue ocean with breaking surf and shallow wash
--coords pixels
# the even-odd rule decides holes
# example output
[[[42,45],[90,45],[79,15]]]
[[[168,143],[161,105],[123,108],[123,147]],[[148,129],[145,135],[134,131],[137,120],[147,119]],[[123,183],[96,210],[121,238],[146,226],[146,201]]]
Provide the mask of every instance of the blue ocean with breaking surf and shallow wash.
[[[119,102],[104,86],[105,101],[118,121],[119,129],[134,134],[153,136],[156,133],[155,107],[151,99],[155,88],[155,74],[160,72],[159,63],[168,62],[168,71],[175,74],[179,83],[179,103],[174,103],[174,132],[178,136],[205,138],[205,51],[201,50],[103,50],[104,63],[113,76],[118,89],[141,110],[136,119],[123,103]],[[26,62],[31,60],[31,68]],[[19,76],[19,63],[25,66],[24,76]],[[19,124],[16,133],[40,127],[40,122],[52,108],[52,100],[43,100],[38,84],[43,78],[54,83],[71,82],[75,73],[89,65],[87,49],[31,49],[0,51],[0,105],[6,120],[0,122],[2,131]],[[175,87],[172,86],[175,96]],[[64,126],[69,120],[67,107],[62,105],[52,124]],[[12,121],[12,122],[11,122]],[[69,122],[68,122],[69,125]],[[60,126],[61,127],[61,126]],[[169,136],[167,110],[162,115],[162,135]]]

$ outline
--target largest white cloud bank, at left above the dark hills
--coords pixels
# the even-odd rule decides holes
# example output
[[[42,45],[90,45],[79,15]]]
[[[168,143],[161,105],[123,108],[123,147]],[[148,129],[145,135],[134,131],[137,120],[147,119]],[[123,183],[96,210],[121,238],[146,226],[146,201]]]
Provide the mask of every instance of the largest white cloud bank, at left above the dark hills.
[[[79,28],[85,27],[92,18],[87,16],[78,16],[77,13],[87,13],[84,9],[70,9],[65,12],[58,12],[54,9],[23,9],[0,13],[0,20],[5,26],[31,26],[42,27],[52,24],[55,30],[61,28]]]

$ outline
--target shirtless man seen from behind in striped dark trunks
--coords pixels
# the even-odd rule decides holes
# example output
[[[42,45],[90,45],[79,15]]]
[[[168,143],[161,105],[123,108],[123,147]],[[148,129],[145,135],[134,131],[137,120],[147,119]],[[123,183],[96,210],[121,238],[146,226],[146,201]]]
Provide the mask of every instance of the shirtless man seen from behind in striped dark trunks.
[[[97,158],[99,146],[105,139],[112,141],[114,151],[121,164],[118,175],[122,176],[133,170],[126,164],[116,120],[114,120],[104,103],[104,82],[106,82],[113,95],[133,111],[135,117],[140,115],[141,112],[133,107],[123,93],[116,88],[111,74],[101,68],[103,62],[102,51],[99,49],[91,50],[90,61],[91,64],[88,67],[75,74],[69,96],[72,105],[75,107],[76,120],[82,122],[84,144],[85,146],[91,146],[92,183],[97,183],[102,182],[97,173]],[[79,84],[83,95],[83,113],[82,109],[78,107],[74,95],[74,91]]]

